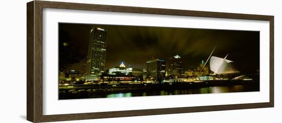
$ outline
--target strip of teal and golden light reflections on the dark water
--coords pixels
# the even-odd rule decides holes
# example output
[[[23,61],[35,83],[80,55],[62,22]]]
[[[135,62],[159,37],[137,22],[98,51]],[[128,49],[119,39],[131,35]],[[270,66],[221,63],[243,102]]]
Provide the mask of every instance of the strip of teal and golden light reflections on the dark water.
[[[111,93],[106,97],[131,97],[131,96],[150,96],[150,95],[177,95],[177,94],[199,94],[199,93],[226,93],[226,92],[245,92],[252,91],[249,88],[245,88],[244,85],[235,86],[214,86],[204,87],[188,90],[157,90],[148,92],[125,92],[125,93]]]

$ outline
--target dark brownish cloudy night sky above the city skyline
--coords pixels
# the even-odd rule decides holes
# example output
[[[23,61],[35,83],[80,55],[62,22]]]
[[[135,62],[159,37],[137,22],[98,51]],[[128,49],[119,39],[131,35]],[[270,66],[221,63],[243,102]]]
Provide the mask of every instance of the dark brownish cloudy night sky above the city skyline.
[[[107,30],[105,69],[121,62],[143,69],[153,58],[168,59],[176,54],[186,70],[196,69],[208,59],[215,45],[212,56],[224,58],[229,54],[227,59],[234,61],[241,73],[259,69],[259,32],[255,31],[59,23],[59,42],[73,44],[87,56],[92,27]],[[67,69],[79,70],[79,64]]]

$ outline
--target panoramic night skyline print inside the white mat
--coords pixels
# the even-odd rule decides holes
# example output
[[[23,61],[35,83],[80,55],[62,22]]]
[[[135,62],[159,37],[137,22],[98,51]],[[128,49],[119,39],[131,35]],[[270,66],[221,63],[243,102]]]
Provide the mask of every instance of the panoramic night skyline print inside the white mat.
[[[58,24],[58,99],[259,91],[259,31]]]

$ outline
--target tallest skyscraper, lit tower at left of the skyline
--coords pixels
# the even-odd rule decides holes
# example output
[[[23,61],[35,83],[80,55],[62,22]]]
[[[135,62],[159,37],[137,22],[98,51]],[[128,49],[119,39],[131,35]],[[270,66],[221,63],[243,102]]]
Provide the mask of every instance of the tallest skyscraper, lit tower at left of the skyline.
[[[86,80],[98,80],[105,69],[107,46],[107,31],[101,28],[92,28],[88,47]]]

